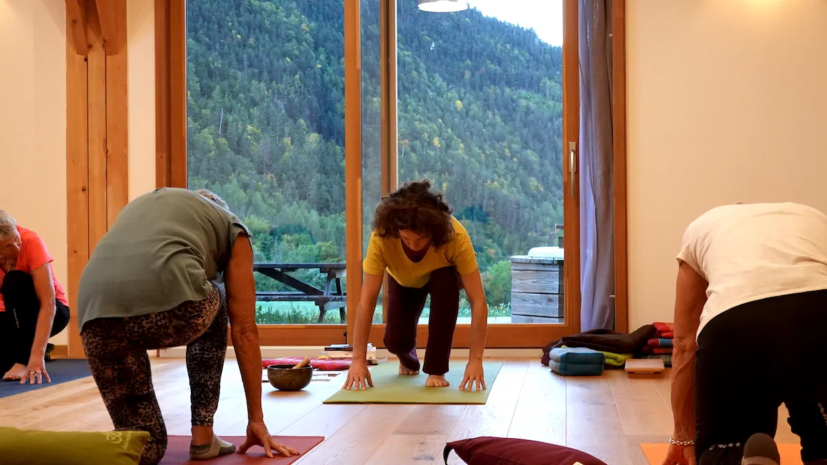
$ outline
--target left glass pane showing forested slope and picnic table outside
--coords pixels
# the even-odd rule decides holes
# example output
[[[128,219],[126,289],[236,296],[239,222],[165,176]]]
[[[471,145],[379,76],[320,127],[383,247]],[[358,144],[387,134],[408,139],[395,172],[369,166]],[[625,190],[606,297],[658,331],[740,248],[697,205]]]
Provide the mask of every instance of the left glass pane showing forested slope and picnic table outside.
[[[187,38],[188,185],[251,229],[257,322],[344,323],[342,2],[191,1]]]

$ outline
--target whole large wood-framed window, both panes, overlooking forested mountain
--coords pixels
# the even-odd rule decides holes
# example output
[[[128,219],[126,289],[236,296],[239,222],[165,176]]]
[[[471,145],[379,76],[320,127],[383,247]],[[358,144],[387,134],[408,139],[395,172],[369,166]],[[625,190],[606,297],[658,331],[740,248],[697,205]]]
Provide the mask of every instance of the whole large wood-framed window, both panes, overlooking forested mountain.
[[[211,189],[251,228],[263,344],[349,338],[375,206],[422,179],[471,234],[490,347],[578,331],[576,1],[469,3],[165,7],[159,183]],[[455,347],[469,320],[463,300]]]

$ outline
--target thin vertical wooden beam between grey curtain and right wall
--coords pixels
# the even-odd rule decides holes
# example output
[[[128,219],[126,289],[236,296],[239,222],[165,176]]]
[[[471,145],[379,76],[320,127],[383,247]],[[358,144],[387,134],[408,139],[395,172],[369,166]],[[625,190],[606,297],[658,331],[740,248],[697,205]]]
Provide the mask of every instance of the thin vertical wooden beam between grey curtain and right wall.
[[[612,0],[614,133],[614,327],[629,332],[629,243],[626,225],[626,0]]]

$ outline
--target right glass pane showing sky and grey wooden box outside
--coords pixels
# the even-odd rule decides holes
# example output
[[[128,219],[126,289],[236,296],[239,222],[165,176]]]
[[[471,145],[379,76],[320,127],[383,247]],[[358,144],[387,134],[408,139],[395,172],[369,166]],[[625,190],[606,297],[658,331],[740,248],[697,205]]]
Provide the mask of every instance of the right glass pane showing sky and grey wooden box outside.
[[[562,2],[469,3],[433,13],[398,0],[399,181],[446,194],[476,247],[490,324],[561,324]],[[463,299],[460,323],[470,317]]]

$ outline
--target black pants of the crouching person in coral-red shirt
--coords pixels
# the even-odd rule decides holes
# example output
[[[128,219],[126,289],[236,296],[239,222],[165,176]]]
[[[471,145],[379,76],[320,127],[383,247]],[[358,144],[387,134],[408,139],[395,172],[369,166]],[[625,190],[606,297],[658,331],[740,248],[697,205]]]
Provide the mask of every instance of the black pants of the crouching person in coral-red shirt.
[[[37,298],[35,281],[26,272],[9,271],[0,286],[5,312],[0,312],[0,376],[15,363],[27,365],[31,345],[35,342],[37,315],[41,313],[41,301]],[[69,307],[55,300],[55,320],[50,336],[69,324]]]

